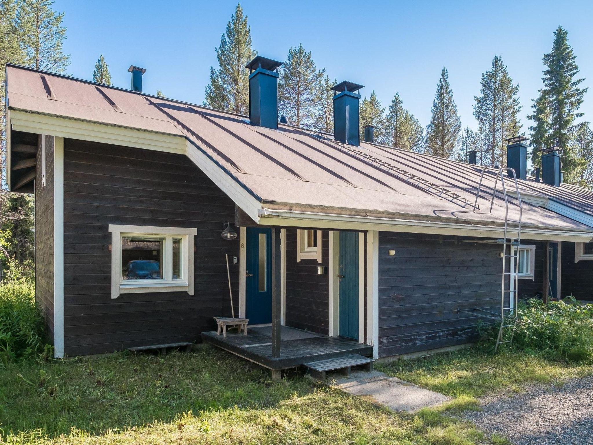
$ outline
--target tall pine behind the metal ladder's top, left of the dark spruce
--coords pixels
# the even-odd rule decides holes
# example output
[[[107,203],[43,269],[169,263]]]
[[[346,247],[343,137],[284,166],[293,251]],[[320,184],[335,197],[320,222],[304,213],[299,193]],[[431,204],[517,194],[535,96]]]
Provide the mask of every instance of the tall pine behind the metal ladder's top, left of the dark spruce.
[[[506,165],[506,142],[521,129],[518,113],[519,85],[513,85],[506,65],[500,56],[494,56],[492,68],[482,74],[480,96],[474,97],[474,116],[490,135],[489,164]]]

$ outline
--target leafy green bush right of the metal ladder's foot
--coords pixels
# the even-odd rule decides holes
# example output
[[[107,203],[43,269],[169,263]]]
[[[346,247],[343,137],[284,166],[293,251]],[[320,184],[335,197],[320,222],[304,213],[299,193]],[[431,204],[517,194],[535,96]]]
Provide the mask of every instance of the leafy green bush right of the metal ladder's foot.
[[[521,301],[510,347],[556,360],[593,363],[593,304],[576,304],[570,297],[547,304]]]

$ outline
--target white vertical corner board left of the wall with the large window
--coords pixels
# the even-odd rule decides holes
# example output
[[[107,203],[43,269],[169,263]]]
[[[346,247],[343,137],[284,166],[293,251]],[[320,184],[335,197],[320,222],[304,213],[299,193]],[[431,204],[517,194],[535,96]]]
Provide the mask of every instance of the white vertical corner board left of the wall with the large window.
[[[59,137],[53,140],[53,348],[54,357],[64,356],[64,139]]]

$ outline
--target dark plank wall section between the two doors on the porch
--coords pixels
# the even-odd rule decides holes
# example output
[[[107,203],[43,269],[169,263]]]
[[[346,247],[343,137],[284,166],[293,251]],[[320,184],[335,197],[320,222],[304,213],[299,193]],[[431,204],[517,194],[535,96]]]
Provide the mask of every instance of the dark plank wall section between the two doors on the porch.
[[[317,275],[317,266],[329,265],[329,231],[322,239],[322,263],[297,263],[297,230],[286,229],[286,326],[328,333],[329,276]]]

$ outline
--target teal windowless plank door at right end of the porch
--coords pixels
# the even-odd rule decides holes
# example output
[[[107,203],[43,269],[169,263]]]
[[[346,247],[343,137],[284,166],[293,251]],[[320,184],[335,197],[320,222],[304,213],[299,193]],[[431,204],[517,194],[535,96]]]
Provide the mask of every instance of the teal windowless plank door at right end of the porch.
[[[358,340],[358,232],[340,232],[340,335]]]

